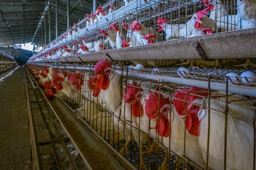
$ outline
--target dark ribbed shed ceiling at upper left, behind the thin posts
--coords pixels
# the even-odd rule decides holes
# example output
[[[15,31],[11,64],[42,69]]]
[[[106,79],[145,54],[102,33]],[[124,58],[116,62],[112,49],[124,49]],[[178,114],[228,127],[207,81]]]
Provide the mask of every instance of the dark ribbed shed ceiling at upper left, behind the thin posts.
[[[67,30],[67,0],[1,0],[0,1],[0,46],[25,44],[32,42],[33,37],[42,42],[45,41],[44,31],[46,27],[46,44],[49,43],[49,5],[51,5],[51,41],[56,37],[56,1],[57,1],[57,25],[60,35]],[[108,0],[97,0],[96,6],[106,3]],[[46,10],[47,9],[47,10]],[[93,0],[70,0],[69,25],[84,19],[84,15],[92,11]],[[46,10],[46,12],[44,12]],[[45,14],[45,15],[44,15]],[[43,20],[41,23],[41,19]],[[46,22],[45,22],[46,19]],[[46,23],[46,25],[45,25]],[[43,27],[43,28],[42,28]],[[35,32],[38,32],[35,34]]]

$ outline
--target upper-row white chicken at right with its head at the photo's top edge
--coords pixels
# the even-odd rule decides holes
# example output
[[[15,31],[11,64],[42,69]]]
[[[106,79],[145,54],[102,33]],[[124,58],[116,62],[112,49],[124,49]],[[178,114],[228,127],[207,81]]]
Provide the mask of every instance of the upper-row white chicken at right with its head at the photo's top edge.
[[[204,3],[210,10],[210,19],[213,19],[217,28],[221,28],[221,32],[236,30],[237,15],[228,15],[225,6],[220,0],[204,0]]]

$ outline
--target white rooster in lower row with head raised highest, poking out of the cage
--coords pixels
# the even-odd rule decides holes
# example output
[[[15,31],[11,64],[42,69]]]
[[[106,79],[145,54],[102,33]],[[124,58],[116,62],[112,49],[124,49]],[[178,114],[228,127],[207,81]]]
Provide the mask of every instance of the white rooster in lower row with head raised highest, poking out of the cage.
[[[138,143],[144,141],[147,135],[142,132],[139,133],[138,129],[136,128],[133,128],[131,130],[131,125],[138,127],[137,118],[134,116],[131,116],[130,108],[133,108],[133,106],[131,103],[125,102],[124,100],[125,90],[124,89],[121,90],[121,87],[119,85],[120,76],[115,72],[114,69],[112,69],[112,66],[110,65],[110,63],[107,60],[99,61],[95,65],[94,71],[98,77],[97,86],[101,88],[100,94],[101,94],[102,100],[109,107],[110,111],[114,112],[115,114],[114,122],[116,125],[118,125],[119,133],[121,133],[121,136],[125,138],[125,140],[127,141],[125,143],[125,146],[120,151],[120,153],[123,155],[124,151],[127,149],[127,145],[131,141],[132,135],[134,136],[135,141]],[[127,97],[129,98],[129,96],[130,95],[128,95]],[[130,98],[129,100],[132,100],[132,99],[133,98]],[[136,106],[134,108],[136,109]],[[122,121],[131,120],[130,122],[131,124],[129,125],[129,122],[126,122],[126,124],[123,124],[122,122],[119,122],[119,119]],[[139,138],[141,139],[140,141],[139,141]],[[140,149],[141,148],[142,148],[142,143],[140,145]],[[141,151],[141,154],[142,154],[142,151]],[[144,166],[143,159],[141,159],[140,165],[142,167]]]

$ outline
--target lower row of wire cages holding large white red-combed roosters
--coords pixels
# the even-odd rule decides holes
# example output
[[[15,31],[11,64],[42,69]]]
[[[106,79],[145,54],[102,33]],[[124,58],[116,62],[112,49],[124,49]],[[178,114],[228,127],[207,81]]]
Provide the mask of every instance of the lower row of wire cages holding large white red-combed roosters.
[[[137,169],[255,169],[255,97],[119,75],[108,61],[26,67]]]

